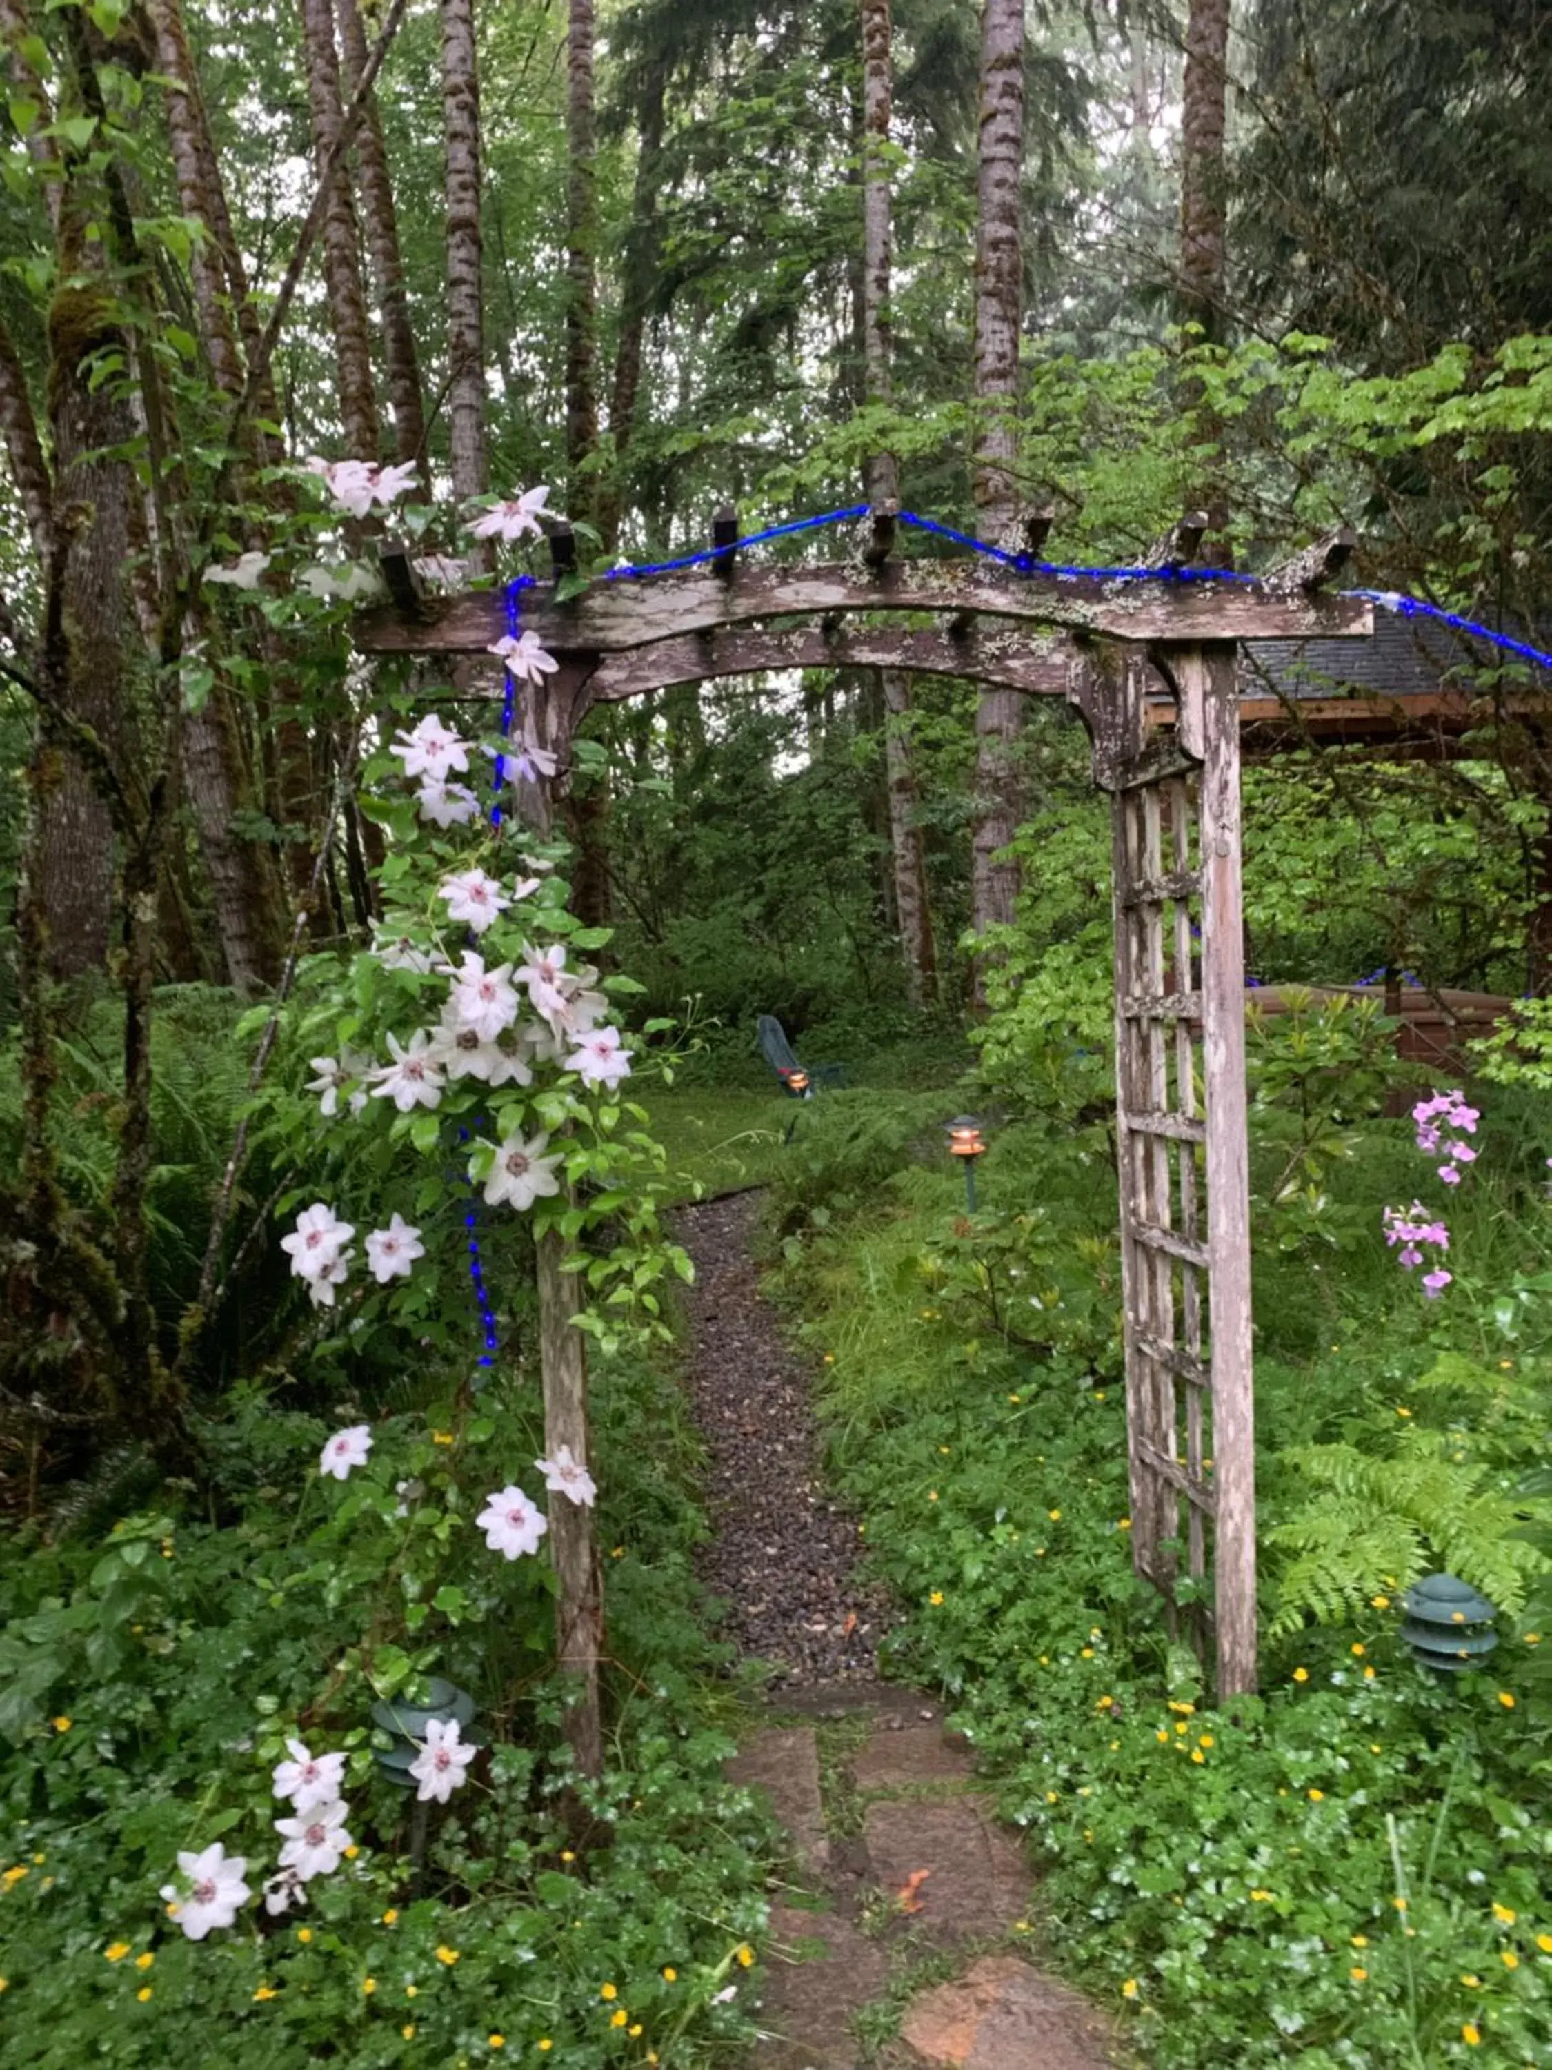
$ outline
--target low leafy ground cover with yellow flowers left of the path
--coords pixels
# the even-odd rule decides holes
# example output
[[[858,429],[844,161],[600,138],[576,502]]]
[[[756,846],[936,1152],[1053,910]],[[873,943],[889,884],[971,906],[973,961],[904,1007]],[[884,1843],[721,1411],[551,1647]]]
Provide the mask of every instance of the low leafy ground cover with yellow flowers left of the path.
[[[101,1532],[4,1546],[8,2070],[685,2070],[737,2051],[747,1993],[718,1998],[764,1923],[768,1828],[722,1780],[733,1739],[706,1695],[695,1439],[664,1366],[600,1358],[594,1379],[613,1726],[586,1849],[546,1681],[548,1565],[507,1567],[470,1528],[509,1461],[542,1451],[526,1374],[476,1399],[410,1379],[344,1486],[312,1470],[333,1424],[248,1389],[211,1432],[211,1511],[174,1488]],[[416,1863],[366,1714],[426,1668],[474,1695],[493,1751],[428,1807]],[[238,1931],[184,1940],[157,1896],[176,1851],[219,1840],[257,1892],[294,1735],[346,1755],[350,1859],[302,1911],[248,1906]]]

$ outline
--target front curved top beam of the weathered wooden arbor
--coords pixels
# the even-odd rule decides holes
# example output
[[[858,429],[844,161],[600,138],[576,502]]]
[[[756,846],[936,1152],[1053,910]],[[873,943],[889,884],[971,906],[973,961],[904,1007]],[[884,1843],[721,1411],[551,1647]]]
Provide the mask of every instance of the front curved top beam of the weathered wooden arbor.
[[[730,578],[693,569],[637,582],[596,584],[565,609],[540,584],[524,625],[553,654],[627,654],[683,633],[718,631],[759,619],[822,613],[975,613],[1022,625],[1070,627],[1111,640],[1345,640],[1374,629],[1362,598],[1260,584],[1099,582],[1066,575],[1002,575],[973,561],[888,561],[857,567],[737,567]],[[385,607],[354,623],[368,654],[480,654],[505,629],[499,590],[464,592],[426,607],[424,621]]]

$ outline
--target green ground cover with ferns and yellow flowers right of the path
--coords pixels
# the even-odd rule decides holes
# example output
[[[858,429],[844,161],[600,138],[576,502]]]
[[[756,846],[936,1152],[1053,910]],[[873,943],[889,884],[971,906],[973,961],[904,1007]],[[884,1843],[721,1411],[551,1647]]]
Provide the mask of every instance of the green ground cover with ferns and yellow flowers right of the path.
[[[1132,1573],[1107,1132],[1008,1128],[975,1223],[908,1101],[832,1116],[834,1184],[811,1143],[774,1186],[834,1470],[908,1606],[894,1666],[956,1699],[1043,1869],[1051,1958],[1159,2066],[1552,2051],[1546,1116],[1492,1099],[1451,1302],[1378,1238],[1420,1184],[1407,1124],[1349,1145],[1341,1246],[1262,1230],[1264,1675],[1223,1710]],[[1442,1565],[1506,1604],[1451,1685],[1397,1639],[1403,1586]]]

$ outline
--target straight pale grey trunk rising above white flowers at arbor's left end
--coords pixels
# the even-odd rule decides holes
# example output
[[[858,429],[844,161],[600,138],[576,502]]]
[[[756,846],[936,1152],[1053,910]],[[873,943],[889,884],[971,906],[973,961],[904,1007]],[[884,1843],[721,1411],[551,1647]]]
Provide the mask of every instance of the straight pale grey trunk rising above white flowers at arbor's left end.
[[[490,486],[484,424],[480,244],[480,70],[474,0],[443,0],[443,126],[447,141],[447,443],[453,499]],[[488,553],[480,557],[490,565]]]

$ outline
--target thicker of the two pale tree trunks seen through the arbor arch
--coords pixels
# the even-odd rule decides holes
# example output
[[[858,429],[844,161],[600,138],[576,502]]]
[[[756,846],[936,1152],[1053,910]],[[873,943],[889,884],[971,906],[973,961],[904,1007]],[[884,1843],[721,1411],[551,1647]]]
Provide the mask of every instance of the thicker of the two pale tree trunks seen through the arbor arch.
[[[975,250],[973,486],[981,536],[1012,530],[1018,491],[1018,335],[1024,306],[1024,4],[985,0],[981,8],[981,153]],[[1018,865],[993,861],[1018,828],[1018,733],[1024,700],[985,689],[975,712],[977,820],[973,836],[973,923],[1014,917]],[[977,992],[979,992],[977,981]]]

